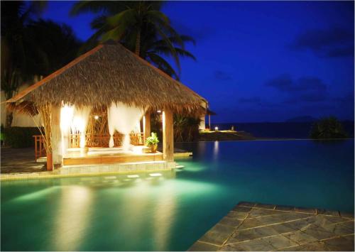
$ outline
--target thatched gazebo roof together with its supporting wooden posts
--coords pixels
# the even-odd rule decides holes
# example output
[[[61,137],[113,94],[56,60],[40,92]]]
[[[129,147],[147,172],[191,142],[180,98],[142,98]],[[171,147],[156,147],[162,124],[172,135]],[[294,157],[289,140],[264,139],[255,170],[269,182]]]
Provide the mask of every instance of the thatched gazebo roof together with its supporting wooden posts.
[[[149,114],[163,111],[163,157],[173,161],[173,113],[205,113],[206,99],[173,80],[119,43],[97,45],[89,52],[6,101],[14,111],[40,114],[47,153],[53,163],[62,162],[60,112],[110,108],[114,104],[137,107],[145,113],[144,133],[150,135]]]

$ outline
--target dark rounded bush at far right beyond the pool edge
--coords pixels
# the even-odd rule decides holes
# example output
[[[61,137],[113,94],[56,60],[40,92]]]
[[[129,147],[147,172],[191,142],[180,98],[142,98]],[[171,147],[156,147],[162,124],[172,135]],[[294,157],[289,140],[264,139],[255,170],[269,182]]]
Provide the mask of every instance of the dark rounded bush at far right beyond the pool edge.
[[[329,116],[320,119],[312,126],[310,137],[313,139],[346,138],[347,133],[334,116]]]

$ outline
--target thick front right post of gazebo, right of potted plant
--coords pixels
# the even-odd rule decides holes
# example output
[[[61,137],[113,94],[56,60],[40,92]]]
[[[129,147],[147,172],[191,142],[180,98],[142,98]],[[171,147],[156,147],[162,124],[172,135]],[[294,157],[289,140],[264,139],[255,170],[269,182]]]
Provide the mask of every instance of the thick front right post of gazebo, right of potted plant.
[[[165,108],[163,111],[163,157],[167,162],[174,161],[173,130],[173,112]]]

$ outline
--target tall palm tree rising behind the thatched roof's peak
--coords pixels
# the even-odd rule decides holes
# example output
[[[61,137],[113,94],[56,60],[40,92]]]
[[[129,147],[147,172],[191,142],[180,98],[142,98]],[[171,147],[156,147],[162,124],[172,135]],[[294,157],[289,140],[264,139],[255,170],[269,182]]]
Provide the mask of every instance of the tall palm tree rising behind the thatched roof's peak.
[[[162,56],[173,57],[180,73],[179,56],[195,60],[185,50],[185,42],[195,41],[175,31],[169,18],[160,11],[162,5],[162,1],[80,1],[70,13],[99,13],[91,23],[97,32],[89,38],[90,46],[97,40],[119,41],[160,70],[178,78],[173,67]]]

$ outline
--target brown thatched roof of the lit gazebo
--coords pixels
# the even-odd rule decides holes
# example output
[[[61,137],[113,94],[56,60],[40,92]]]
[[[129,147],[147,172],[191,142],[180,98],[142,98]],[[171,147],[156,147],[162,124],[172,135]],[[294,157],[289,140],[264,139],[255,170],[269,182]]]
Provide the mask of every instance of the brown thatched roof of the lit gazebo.
[[[60,70],[24,89],[8,103],[109,106],[111,102],[147,109],[170,107],[200,113],[207,101],[119,43],[98,45]],[[202,111],[203,113],[204,111]]]

